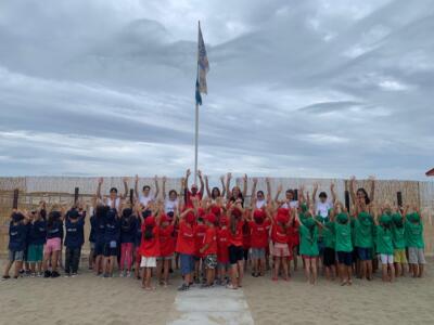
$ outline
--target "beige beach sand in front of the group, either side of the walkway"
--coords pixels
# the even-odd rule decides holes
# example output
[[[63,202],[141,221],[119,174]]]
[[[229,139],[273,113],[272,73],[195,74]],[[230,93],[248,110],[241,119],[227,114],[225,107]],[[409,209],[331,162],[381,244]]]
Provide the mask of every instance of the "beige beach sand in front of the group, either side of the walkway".
[[[350,287],[323,278],[310,286],[302,271],[289,283],[247,275],[243,290],[232,297],[246,301],[255,324],[434,324],[433,260],[429,262],[426,276],[421,280],[405,277],[383,284],[376,275],[373,282],[355,280]],[[3,266],[4,260],[0,264]],[[137,280],[100,278],[88,271],[75,278],[3,281],[0,324],[177,324],[184,316],[179,310],[184,292],[177,292],[179,275],[176,277],[168,288],[157,287],[152,292],[141,289]],[[203,321],[209,310],[206,297],[213,299],[225,291],[194,290],[197,295],[193,296],[204,301],[200,324],[227,324],[224,318]],[[201,299],[194,300],[196,312]],[[213,312],[218,306],[214,304]]]

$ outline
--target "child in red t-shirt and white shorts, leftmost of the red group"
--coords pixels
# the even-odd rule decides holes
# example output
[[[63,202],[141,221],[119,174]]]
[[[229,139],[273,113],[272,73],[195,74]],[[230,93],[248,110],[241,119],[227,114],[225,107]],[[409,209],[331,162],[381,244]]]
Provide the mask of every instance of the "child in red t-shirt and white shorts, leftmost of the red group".
[[[153,290],[151,286],[152,268],[156,268],[156,258],[159,256],[158,225],[155,218],[150,216],[142,224],[142,239],[139,253],[142,257],[140,268],[143,268],[142,287]]]

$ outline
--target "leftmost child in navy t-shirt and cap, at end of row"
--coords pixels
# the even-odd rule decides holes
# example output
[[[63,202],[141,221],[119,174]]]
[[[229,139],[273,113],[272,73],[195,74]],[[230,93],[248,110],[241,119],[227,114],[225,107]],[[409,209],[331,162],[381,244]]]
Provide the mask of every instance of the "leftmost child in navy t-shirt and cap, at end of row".
[[[24,249],[26,246],[27,226],[29,217],[26,212],[14,211],[11,214],[9,223],[9,261],[4,268],[3,280],[8,280],[9,271],[12,264],[15,263],[14,278],[20,275],[20,270],[23,268]]]

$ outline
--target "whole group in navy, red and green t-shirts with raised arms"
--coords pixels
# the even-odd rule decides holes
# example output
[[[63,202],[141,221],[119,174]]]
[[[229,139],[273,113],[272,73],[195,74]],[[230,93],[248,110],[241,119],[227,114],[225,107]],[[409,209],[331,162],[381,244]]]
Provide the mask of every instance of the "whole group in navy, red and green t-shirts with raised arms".
[[[163,178],[163,199],[158,199],[156,177],[154,194],[149,185],[139,193],[136,177],[136,194],[130,197],[127,179],[124,195],[113,187],[107,197],[101,195],[100,179],[89,220],[89,268],[103,277],[113,276],[115,265],[122,277],[132,276],[133,269],[146,290],[154,289],[152,276],[167,286],[169,274],[178,266],[182,275],[179,290],[201,283],[201,287],[237,289],[242,287],[247,266],[254,277],[272,269],[272,281],[289,281],[291,262],[297,270],[298,256],[310,284],[321,272],[331,281],[339,276],[342,285],[352,285],[353,274],[370,281],[379,262],[384,282],[404,275],[407,260],[413,277],[423,275],[423,222],[418,207],[375,203],[374,180],[370,195],[365,188],[354,191],[355,179],[350,180],[348,211],[336,199],[333,184],[331,199],[326,192],[317,196],[317,184],[311,196],[301,187],[297,197],[288,190],[280,199],[281,186],[272,197],[268,179],[267,194],[256,191],[257,179],[253,179],[247,205],[246,176],[243,191],[230,188],[230,173],[226,182],[221,178],[220,191],[209,190],[208,179],[201,172],[201,188],[195,184],[189,187],[190,174],[188,170],[182,178],[182,195],[175,190],[166,195]],[[49,213],[44,203],[30,212],[13,211],[3,278],[10,277],[14,262],[14,277],[23,269],[31,276],[59,276],[63,246],[65,276],[77,275],[85,220],[86,209],[80,204],[69,210],[53,208]]]

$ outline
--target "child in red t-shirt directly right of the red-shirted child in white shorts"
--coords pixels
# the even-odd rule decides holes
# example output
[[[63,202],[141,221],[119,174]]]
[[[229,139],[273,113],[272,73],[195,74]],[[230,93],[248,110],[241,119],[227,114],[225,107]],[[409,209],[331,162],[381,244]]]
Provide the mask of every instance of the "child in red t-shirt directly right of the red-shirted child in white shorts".
[[[159,285],[167,287],[169,278],[169,262],[174,258],[175,251],[175,231],[171,220],[162,214],[159,218],[158,238],[159,238],[159,257],[156,260],[156,274]]]

